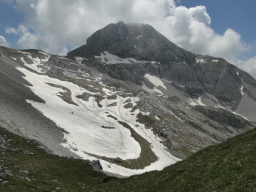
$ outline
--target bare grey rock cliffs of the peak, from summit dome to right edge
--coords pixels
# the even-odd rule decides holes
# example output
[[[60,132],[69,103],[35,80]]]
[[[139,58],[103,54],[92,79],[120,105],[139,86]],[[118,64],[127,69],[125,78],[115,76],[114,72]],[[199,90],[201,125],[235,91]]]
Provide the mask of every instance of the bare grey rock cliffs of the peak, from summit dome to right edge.
[[[112,23],[93,33],[85,46],[72,50],[68,55],[94,58],[103,51],[119,58],[160,63],[99,65],[113,78],[139,84],[144,74],[149,73],[185,85],[182,90],[191,97],[208,92],[224,102],[240,101],[243,86],[243,91],[256,99],[256,81],[250,75],[223,58],[196,55],[184,50],[147,24]]]

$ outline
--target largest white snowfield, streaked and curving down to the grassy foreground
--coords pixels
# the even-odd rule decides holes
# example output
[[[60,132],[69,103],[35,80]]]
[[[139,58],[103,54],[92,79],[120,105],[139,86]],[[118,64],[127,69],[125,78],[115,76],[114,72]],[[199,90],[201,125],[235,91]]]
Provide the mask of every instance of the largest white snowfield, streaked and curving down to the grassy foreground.
[[[118,156],[122,159],[136,159],[139,157],[141,151],[139,143],[131,137],[129,129],[124,128],[116,120],[107,117],[107,115],[111,114],[118,120],[127,122],[132,129],[151,143],[151,149],[159,159],[139,170],[127,169],[116,164],[110,164],[108,161],[100,160],[103,170],[123,176],[131,176],[133,174],[142,174],[146,171],[161,170],[180,160],[165,150],[165,146],[161,144],[161,139],[156,137],[150,129],[145,129],[143,124],[139,124],[139,127],[135,126],[135,124],[138,124],[136,119],[139,110],[133,112],[134,115],[132,115],[130,109],[124,108],[124,102],[130,99],[135,105],[135,102],[139,100],[138,97],[123,98],[117,96],[116,100],[102,100],[100,102],[102,107],[98,107],[94,97],[90,97],[89,101],[83,101],[75,97],[89,91],[72,82],[60,81],[49,78],[46,75],[36,75],[24,68],[18,68],[18,70],[24,73],[26,75],[24,78],[33,85],[31,90],[46,101],[46,103],[38,103],[31,100],[27,100],[27,102],[68,132],[68,134],[65,134],[67,142],[62,145],[83,159],[95,159],[89,154],[111,158]],[[59,92],[64,90],[46,83],[68,88],[72,92],[73,102],[78,106],[64,102],[58,97],[60,95]],[[108,92],[108,94],[111,92],[110,90],[103,91]],[[93,95],[95,93],[90,92],[90,94]],[[107,107],[113,102],[117,102],[117,105]],[[102,128],[103,126],[112,127],[112,129]]]

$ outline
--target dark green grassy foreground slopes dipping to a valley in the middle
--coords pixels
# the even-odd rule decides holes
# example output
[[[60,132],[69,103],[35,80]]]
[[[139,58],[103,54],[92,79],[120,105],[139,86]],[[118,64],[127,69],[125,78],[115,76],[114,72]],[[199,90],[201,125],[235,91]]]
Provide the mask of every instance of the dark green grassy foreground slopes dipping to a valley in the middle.
[[[163,171],[122,179],[93,171],[87,161],[47,154],[6,129],[0,136],[0,191],[256,191],[256,129]]]

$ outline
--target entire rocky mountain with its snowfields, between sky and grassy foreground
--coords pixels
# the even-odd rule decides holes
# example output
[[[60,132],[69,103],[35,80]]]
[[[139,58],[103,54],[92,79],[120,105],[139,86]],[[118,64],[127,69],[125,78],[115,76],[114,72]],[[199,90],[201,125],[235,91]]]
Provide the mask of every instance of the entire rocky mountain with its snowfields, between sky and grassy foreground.
[[[256,81],[145,24],[110,24],[67,55],[0,47],[0,126],[107,174],[161,170],[255,127]]]

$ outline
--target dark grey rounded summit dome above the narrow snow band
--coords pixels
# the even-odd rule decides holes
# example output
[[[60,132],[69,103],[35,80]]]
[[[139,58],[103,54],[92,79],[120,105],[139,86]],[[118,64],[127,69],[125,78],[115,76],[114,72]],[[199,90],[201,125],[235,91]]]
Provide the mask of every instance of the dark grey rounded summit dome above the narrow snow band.
[[[85,46],[68,53],[72,56],[100,55],[107,51],[119,58],[169,63],[181,58],[193,63],[196,55],[171,43],[156,29],[144,23],[111,23],[87,38]]]

